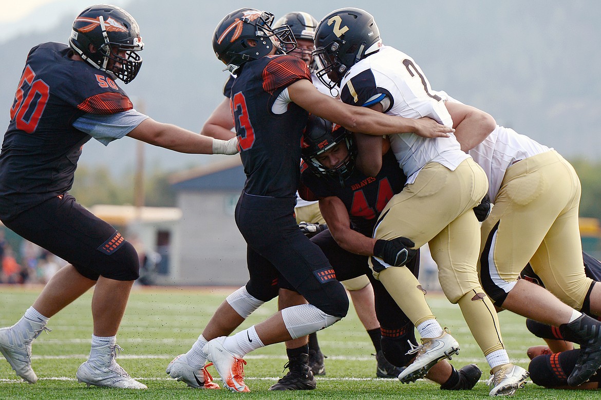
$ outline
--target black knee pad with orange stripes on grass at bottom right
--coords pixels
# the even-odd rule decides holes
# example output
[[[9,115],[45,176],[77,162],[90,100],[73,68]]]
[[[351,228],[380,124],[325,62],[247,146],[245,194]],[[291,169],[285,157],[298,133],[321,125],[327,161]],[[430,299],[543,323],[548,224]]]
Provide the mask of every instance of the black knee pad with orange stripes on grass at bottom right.
[[[579,350],[542,354],[534,357],[528,366],[530,379],[538,386],[567,386],[567,377],[572,374]]]

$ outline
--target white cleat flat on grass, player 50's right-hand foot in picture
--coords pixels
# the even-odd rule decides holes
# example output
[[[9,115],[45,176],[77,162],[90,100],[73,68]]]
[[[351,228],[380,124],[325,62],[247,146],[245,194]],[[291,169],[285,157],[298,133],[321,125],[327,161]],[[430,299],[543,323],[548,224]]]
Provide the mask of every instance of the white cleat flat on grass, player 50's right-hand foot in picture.
[[[75,376],[81,383],[87,386],[116,387],[118,389],[147,389],[143,383],[139,383],[129,376],[120,365],[117,364],[117,350],[121,347],[107,345],[111,348],[111,353],[107,354],[105,360],[102,358],[94,361],[86,361],[79,366]]]

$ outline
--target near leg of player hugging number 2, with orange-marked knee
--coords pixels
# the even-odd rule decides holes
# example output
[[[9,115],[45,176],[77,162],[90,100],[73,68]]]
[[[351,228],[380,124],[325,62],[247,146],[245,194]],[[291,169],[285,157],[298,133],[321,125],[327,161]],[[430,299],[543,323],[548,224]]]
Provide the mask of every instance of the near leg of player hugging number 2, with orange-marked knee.
[[[245,354],[316,332],[346,315],[346,291],[335,280],[319,247],[298,229],[293,207],[294,198],[245,194],[237,205],[236,223],[246,242],[266,257],[310,304],[284,309],[236,335],[209,341],[204,351],[230,390],[248,391],[243,382],[233,379],[241,372]],[[266,228],[259,232],[256,226]]]

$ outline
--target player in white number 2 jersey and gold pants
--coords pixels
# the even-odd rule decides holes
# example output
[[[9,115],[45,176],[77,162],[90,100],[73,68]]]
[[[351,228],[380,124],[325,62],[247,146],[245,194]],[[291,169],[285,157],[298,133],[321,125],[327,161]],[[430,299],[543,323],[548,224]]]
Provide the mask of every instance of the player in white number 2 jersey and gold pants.
[[[444,102],[432,93],[415,61],[382,45],[373,16],[366,11],[343,8],[329,13],[319,23],[314,43],[320,64],[317,76],[327,76],[331,87],[338,85],[343,102],[405,118],[430,117],[453,126]],[[328,85],[327,80],[324,83]],[[455,128],[469,129],[469,123]],[[479,123],[489,132],[495,126],[490,116]],[[359,157],[364,157],[358,165],[367,175],[379,171],[381,140],[358,135]],[[486,174],[452,134],[423,140],[404,133],[391,135],[390,141],[408,177],[407,186],[380,214],[374,229],[377,256],[371,257],[370,266],[415,324],[423,342],[415,361],[398,378],[405,383],[415,381],[438,360],[459,350],[457,341],[436,321],[418,280],[397,262],[394,255],[403,249],[391,239],[402,236],[412,240],[415,248],[429,243],[445,295],[459,304],[489,362],[490,395],[513,395],[525,384],[528,372],[510,363],[495,309],[477,273],[480,226],[471,209],[486,195]]]

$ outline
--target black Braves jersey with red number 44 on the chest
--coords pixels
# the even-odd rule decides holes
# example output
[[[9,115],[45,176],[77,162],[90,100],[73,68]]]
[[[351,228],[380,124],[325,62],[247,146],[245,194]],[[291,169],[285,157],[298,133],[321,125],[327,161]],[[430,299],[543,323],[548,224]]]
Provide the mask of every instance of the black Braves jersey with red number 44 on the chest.
[[[382,169],[375,177],[367,177],[355,168],[344,181],[344,187],[337,180],[317,176],[304,169],[299,195],[309,201],[329,196],[340,198],[349,211],[355,230],[371,237],[377,217],[392,196],[403,190],[406,180],[397,159],[389,150],[382,157]]]

